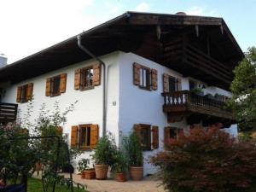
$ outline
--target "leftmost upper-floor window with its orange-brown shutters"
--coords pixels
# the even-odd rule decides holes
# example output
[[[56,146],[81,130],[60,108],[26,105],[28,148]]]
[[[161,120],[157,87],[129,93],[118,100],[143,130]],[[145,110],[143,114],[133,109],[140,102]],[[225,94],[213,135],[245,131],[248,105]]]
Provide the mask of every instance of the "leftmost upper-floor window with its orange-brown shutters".
[[[17,88],[16,102],[28,102],[32,100],[33,84],[24,84]]]

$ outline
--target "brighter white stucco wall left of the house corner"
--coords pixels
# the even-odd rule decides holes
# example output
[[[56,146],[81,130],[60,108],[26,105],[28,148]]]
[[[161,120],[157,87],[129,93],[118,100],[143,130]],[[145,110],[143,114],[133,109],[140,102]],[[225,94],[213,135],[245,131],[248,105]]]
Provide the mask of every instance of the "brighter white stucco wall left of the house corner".
[[[102,61],[106,63],[108,71],[108,118],[107,118],[107,131],[113,132],[114,135],[118,133],[118,119],[119,119],[119,66],[118,66],[119,52],[113,52],[101,57]],[[75,105],[73,112],[67,115],[67,124],[63,125],[63,133],[67,134],[68,138],[71,137],[72,125],[83,124],[98,124],[99,134],[102,136],[102,82],[100,86],[95,86],[92,90],[74,90],[74,70],[80,67],[86,67],[94,64],[96,61],[82,61],[68,67],[58,69],[56,71],[45,73],[33,79],[26,79],[19,84],[12,84],[7,86],[6,93],[2,98],[3,102],[16,103],[17,87],[22,84],[33,83],[33,113],[30,118],[31,121],[38,118],[39,110],[43,103],[46,108],[52,111],[54,103],[59,102],[61,112],[69,107],[71,103],[78,101]],[[66,92],[61,96],[45,96],[46,79],[67,73],[67,86]],[[112,102],[116,101],[116,106]],[[26,113],[27,102],[18,103],[20,110],[20,117]],[[116,137],[118,142],[118,137]],[[80,158],[90,157],[91,152],[84,152]],[[79,160],[78,159],[78,160]]]

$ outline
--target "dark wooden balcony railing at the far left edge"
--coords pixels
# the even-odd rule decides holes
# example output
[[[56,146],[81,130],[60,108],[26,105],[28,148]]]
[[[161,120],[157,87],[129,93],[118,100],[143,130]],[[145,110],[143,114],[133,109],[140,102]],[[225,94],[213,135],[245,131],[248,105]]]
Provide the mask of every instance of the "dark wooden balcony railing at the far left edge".
[[[0,102],[0,124],[14,122],[17,118],[18,104]]]

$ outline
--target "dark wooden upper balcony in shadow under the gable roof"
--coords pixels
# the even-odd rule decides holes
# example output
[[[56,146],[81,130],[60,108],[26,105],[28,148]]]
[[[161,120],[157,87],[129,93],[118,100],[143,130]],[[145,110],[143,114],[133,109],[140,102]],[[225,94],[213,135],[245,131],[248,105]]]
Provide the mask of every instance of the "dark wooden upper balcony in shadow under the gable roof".
[[[233,79],[232,69],[195,48],[183,38],[177,38],[164,46],[163,63],[167,67],[201,79],[209,85],[229,89]]]

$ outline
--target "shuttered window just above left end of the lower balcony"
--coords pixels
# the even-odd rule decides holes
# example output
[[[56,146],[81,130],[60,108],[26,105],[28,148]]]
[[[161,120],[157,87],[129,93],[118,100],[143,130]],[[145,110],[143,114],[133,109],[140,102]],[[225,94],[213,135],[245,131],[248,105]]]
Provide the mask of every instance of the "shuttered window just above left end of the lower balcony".
[[[163,74],[163,90],[164,92],[173,92],[182,90],[181,79],[172,77],[171,75],[164,73]]]

